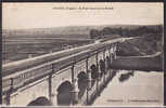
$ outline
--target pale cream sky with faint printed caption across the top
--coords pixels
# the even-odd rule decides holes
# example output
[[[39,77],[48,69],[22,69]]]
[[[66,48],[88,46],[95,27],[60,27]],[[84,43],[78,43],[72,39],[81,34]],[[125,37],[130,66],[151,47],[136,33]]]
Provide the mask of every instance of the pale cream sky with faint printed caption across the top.
[[[79,8],[88,10],[79,10]],[[2,4],[2,29],[87,25],[157,25],[163,23],[164,4],[162,2]]]

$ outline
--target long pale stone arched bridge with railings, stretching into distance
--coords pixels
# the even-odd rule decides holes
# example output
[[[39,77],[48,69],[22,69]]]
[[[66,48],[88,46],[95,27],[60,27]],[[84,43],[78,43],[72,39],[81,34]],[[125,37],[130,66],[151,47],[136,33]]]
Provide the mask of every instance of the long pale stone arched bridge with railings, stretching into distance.
[[[116,73],[111,69],[116,60],[116,45],[129,39],[114,39],[4,65],[3,104],[91,104]]]

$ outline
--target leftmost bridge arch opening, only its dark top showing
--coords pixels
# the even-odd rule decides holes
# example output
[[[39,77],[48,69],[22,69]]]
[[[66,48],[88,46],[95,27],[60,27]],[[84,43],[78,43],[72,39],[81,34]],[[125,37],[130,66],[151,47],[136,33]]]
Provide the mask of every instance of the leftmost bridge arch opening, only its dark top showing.
[[[47,97],[41,96],[31,100],[27,106],[51,106],[51,102]]]

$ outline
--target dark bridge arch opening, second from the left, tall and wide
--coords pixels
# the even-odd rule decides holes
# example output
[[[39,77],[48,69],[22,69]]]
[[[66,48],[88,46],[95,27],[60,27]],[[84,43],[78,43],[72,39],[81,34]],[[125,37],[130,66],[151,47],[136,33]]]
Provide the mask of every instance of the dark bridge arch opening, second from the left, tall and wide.
[[[72,104],[72,83],[69,81],[64,81],[61,83],[61,85],[58,87],[58,105],[71,105]]]

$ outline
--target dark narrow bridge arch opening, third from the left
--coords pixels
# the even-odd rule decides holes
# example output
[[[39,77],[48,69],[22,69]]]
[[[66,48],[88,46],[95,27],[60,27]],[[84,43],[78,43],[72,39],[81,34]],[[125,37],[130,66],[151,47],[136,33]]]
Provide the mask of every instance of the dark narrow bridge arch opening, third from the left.
[[[85,71],[79,72],[79,75],[77,76],[78,78],[78,89],[79,89],[79,93],[78,93],[78,97],[80,98],[87,89],[87,84],[88,84],[88,76]]]

